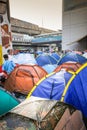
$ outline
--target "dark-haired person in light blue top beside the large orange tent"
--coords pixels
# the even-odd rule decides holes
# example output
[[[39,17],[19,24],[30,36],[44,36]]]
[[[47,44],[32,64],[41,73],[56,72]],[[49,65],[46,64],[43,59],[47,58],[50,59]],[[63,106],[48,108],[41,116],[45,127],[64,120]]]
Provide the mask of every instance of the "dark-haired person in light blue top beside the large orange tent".
[[[9,60],[8,54],[5,54],[3,57],[5,61],[2,65],[2,70],[5,71],[7,74],[10,74],[16,67],[16,64],[13,61]]]

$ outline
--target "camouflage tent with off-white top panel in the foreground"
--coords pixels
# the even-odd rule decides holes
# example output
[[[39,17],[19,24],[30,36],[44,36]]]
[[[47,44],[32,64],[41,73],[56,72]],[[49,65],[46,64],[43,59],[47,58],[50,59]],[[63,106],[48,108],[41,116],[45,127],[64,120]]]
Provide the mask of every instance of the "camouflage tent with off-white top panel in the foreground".
[[[0,122],[5,129],[54,130],[67,110],[69,119],[75,112],[73,107],[55,100],[30,97],[2,117]]]

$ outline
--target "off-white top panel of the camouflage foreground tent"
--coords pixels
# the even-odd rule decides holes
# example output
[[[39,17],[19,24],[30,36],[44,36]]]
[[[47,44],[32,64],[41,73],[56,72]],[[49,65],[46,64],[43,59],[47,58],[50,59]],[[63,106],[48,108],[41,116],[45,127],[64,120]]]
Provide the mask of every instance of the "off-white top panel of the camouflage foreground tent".
[[[38,120],[38,116],[40,116],[41,121],[56,103],[57,101],[55,100],[31,96],[29,99],[24,100],[17,107],[13,108],[10,112],[33,120]]]

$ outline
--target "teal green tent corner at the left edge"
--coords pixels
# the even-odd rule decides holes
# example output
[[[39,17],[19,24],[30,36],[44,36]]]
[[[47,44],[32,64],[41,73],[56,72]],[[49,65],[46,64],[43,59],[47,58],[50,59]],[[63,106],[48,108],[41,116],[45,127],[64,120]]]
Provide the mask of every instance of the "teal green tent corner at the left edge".
[[[8,91],[0,86],[0,116],[6,114],[20,102]]]

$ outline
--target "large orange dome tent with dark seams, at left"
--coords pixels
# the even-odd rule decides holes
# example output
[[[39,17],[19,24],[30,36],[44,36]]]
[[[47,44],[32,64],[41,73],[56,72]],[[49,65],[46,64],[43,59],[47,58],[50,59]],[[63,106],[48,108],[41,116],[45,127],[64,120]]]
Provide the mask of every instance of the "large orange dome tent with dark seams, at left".
[[[10,92],[28,94],[33,86],[47,74],[38,65],[19,65],[9,74],[4,86]]]

